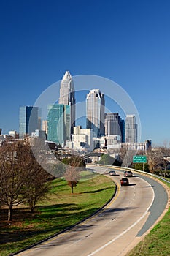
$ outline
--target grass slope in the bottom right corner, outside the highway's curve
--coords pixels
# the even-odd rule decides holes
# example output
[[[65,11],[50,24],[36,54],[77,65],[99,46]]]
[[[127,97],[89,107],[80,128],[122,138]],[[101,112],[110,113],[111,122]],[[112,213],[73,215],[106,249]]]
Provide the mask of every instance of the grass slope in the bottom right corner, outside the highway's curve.
[[[170,181],[170,179],[169,179]],[[167,184],[170,187],[170,184]],[[163,219],[144,237],[127,256],[170,255],[170,208]]]

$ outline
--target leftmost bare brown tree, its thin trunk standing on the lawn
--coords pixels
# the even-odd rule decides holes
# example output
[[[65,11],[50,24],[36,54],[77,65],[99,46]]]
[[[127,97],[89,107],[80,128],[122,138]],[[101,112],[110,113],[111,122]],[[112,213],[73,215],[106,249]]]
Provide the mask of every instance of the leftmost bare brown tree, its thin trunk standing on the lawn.
[[[8,207],[8,220],[12,220],[12,207],[23,202],[24,156],[23,146],[7,143],[0,148],[0,203]]]

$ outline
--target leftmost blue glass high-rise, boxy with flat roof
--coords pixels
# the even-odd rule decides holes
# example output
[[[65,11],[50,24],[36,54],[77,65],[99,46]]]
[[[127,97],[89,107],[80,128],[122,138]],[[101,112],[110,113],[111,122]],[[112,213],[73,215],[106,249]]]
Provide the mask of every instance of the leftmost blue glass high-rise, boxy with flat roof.
[[[36,129],[41,129],[41,108],[33,106],[20,107],[19,135],[31,135]]]

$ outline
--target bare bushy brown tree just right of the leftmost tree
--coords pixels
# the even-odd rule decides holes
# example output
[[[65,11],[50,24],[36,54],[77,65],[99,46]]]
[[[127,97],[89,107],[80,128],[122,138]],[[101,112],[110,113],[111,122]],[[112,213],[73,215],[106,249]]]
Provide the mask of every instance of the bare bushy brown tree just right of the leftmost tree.
[[[47,181],[53,176],[47,173],[43,167],[47,163],[47,149],[42,140],[36,140],[34,147],[30,146],[29,140],[25,141],[26,159],[25,159],[25,183],[23,186],[24,196],[23,202],[28,204],[31,212],[34,211],[36,203],[47,199],[50,194],[51,184]],[[36,157],[39,157],[37,162]],[[43,167],[42,167],[43,166]]]

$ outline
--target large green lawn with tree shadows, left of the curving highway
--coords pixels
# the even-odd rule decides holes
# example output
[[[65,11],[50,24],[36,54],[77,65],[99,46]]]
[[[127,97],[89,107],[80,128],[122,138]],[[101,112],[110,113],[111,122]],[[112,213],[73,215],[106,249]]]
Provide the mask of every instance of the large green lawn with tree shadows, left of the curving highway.
[[[0,255],[9,255],[75,225],[104,206],[115,193],[115,184],[103,175],[82,172],[74,194],[62,178],[51,181],[50,198],[36,206],[14,208],[8,222],[7,209],[0,209]]]

